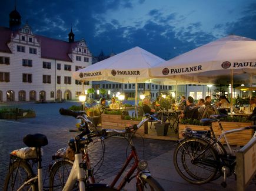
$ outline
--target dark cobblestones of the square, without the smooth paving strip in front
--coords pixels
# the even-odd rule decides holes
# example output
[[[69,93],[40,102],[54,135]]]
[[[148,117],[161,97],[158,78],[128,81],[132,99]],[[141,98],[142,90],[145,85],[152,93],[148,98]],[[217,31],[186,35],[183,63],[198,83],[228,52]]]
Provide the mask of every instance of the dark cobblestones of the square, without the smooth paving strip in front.
[[[19,108],[34,109],[36,111],[36,118],[18,120],[0,119],[0,186],[4,184],[6,169],[9,164],[8,153],[11,150],[25,147],[25,144],[22,142],[22,138],[25,135],[42,133],[47,136],[49,143],[43,148],[44,156],[42,159],[45,169],[48,164],[52,162],[51,155],[59,148],[67,146],[68,140],[77,135],[77,132],[70,133],[69,129],[75,129],[75,124],[78,123],[79,120],[71,116],[61,116],[58,112],[59,108],[69,108],[71,105],[79,105],[79,103],[66,102],[12,105],[12,107],[17,106]],[[137,146],[139,158],[142,159],[145,155],[145,159],[147,160],[167,152],[169,149],[172,149],[174,145],[174,142],[162,140],[145,139],[143,143],[141,138],[135,138],[133,141],[135,146]],[[127,150],[127,140],[123,138],[108,138],[104,143],[104,162],[100,167],[99,165],[95,167],[95,170],[99,168],[95,176],[98,181],[115,175],[126,159],[126,152],[129,151],[129,148]],[[145,152],[143,152],[143,144],[145,145]],[[101,142],[95,141],[89,145],[89,156],[92,166],[96,165],[102,158]],[[47,171],[44,170],[44,173],[46,172]]]

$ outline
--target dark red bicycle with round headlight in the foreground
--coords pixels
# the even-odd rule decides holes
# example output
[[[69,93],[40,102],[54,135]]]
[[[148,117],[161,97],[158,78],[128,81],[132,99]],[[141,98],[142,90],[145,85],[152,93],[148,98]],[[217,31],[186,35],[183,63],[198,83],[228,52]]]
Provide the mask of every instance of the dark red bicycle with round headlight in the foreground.
[[[71,110],[65,110],[61,109],[62,115],[69,115],[74,116],[76,118],[82,119],[85,124],[92,125],[96,130],[97,128],[94,126],[94,124],[87,118],[87,115],[84,113],[78,113],[78,112],[72,112]],[[81,139],[81,142],[86,144],[78,144],[82,145],[82,148],[85,148],[84,150],[84,173],[85,173],[85,187],[87,189],[98,189],[98,190],[121,190],[128,182],[130,182],[132,179],[136,177],[136,188],[137,190],[164,190],[162,189],[162,186],[155,180],[149,173],[147,169],[147,162],[145,160],[139,161],[137,151],[135,149],[135,146],[132,143],[132,135],[145,123],[148,121],[149,118],[154,118],[154,115],[150,116],[147,115],[147,118],[143,119],[138,126],[133,125],[125,128],[125,130],[115,130],[115,129],[102,129],[104,133],[96,133],[91,132],[87,134],[87,137],[84,137]],[[87,126],[87,125],[86,125]],[[87,129],[87,128],[85,128]],[[94,182],[94,173],[93,169],[89,168],[87,165],[84,165],[85,163],[88,164],[89,162],[89,156],[87,152],[87,146],[89,143],[91,143],[93,140],[91,139],[93,136],[101,136],[101,141],[104,139],[109,138],[110,136],[118,135],[118,136],[124,136],[125,139],[128,140],[129,145],[131,146],[131,153],[129,154],[127,160],[124,162],[124,165],[117,176],[115,176],[115,179],[111,183],[111,185],[105,185],[105,184],[99,184]],[[76,149],[77,150],[77,149]],[[104,156],[104,155],[103,155]],[[117,182],[119,179],[121,179],[121,176],[123,175],[125,169],[127,169],[129,163],[131,160],[134,159],[134,163],[132,163],[131,169],[128,170],[128,172],[125,174],[125,177],[121,180],[119,185],[117,185]],[[81,163],[80,163],[81,164]],[[51,167],[50,171],[50,177],[49,177],[49,187],[50,190],[67,190],[67,185],[69,188],[74,188],[75,181],[77,179],[74,174],[72,174],[72,170],[70,171],[70,167],[74,166],[74,163],[72,161],[67,159],[61,159],[59,161],[56,161],[54,165]],[[135,170],[137,169],[137,172]],[[135,173],[135,175],[134,175]],[[134,176],[132,176],[134,175]],[[72,182],[69,181],[70,178],[73,177]],[[67,181],[66,181],[67,180]],[[116,186],[117,185],[117,186]]]

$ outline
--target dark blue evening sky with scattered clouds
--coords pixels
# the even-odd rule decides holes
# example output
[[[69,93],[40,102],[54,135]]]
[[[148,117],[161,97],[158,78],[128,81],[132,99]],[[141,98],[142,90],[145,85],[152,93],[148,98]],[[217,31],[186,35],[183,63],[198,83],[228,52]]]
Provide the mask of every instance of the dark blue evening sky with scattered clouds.
[[[0,0],[0,25],[9,26],[15,0]],[[16,0],[22,26],[35,34],[84,38],[98,56],[139,46],[170,59],[235,34],[256,39],[255,0]]]

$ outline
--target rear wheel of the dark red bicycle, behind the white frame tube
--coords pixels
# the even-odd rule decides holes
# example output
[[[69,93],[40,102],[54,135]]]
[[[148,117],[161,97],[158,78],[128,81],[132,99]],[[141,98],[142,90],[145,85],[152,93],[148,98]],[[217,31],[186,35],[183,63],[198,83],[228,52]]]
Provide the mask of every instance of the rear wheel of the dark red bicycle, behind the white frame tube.
[[[73,162],[71,160],[59,160],[52,165],[49,175],[49,191],[62,190],[71,172]],[[78,187],[76,183],[74,188]]]

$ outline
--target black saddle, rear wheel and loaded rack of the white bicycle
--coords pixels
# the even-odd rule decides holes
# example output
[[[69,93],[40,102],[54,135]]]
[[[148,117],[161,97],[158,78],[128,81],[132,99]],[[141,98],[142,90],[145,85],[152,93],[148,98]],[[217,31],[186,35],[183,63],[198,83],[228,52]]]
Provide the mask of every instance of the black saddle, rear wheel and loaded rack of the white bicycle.
[[[23,142],[29,148],[24,155],[20,154],[22,149],[11,152],[9,170],[5,179],[4,190],[43,190],[42,184],[42,146],[48,145],[45,135],[26,135]],[[32,149],[31,149],[32,148]],[[32,163],[32,164],[31,164]],[[38,173],[34,174],[32,165],[38,164]]]

